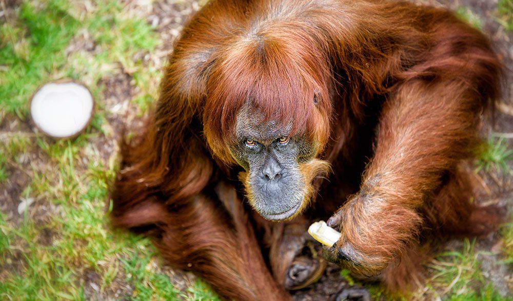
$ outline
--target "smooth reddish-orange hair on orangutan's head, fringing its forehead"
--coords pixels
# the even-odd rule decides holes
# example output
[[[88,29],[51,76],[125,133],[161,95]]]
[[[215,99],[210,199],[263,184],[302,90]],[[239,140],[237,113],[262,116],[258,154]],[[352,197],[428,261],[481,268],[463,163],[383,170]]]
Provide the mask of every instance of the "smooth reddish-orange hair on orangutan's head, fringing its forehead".
[[[328,64],[308,38],[289,35],[240,38],[219,52],[207,83],[203,122],[209,146],[221,159],[228,155],[220,148],[236,143],[235,124],[241,110],[250,109],[258,112],[262,122],[290,128],[290,136],[327,140]]]

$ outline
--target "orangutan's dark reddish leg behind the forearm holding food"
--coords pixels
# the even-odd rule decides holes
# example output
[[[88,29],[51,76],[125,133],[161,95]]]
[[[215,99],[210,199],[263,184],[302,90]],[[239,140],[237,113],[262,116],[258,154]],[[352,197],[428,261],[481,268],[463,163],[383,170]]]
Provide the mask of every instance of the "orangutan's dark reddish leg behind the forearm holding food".
[[[424,218],[422,241],[437,241],[449,234],[480,235],[495,227],[499,214],[492,208],[475,205],[468,177],[468,171],[458,166],[446,174],[443,186],[424,202],[420,210]],[[432,247],[409,243],[401,257],[380,274],[381,281],[391,291],[422,286],[421,263],[429,260]]]

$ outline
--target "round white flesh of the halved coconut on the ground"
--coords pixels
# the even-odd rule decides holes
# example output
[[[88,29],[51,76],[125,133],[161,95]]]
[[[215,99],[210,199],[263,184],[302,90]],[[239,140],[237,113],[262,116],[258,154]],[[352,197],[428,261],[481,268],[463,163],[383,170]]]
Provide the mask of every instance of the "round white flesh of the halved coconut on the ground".
[[[89,123],[93,97],[89,90],[76,82],[47,83],[32,97],[32,120],[46,134],[71,137]]]

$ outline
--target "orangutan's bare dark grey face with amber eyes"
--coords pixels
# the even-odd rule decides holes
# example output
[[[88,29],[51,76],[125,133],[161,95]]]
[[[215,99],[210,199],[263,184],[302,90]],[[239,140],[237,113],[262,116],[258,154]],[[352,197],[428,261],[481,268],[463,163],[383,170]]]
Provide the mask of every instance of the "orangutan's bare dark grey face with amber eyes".
[[[260,114],[241,110],[232,155],[246,169],[246,190],[253,208],[269,220],[285,220],[298,213],[306,191],[300,163],[313,150],[301,135],[289,137],[288,128],[262,122]]]

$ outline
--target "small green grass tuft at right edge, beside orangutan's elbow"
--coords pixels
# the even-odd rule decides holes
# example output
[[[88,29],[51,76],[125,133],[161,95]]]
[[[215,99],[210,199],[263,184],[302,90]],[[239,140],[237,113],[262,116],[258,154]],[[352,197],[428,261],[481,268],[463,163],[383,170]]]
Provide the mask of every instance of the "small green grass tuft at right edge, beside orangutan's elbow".
[[[509,170],[506,161],[513,154],[513,149],[508,148],[504,138],[491,137],[482,143],[476,153],[477,171],[483,169],[488,172],[493,167],[506,173]]]

